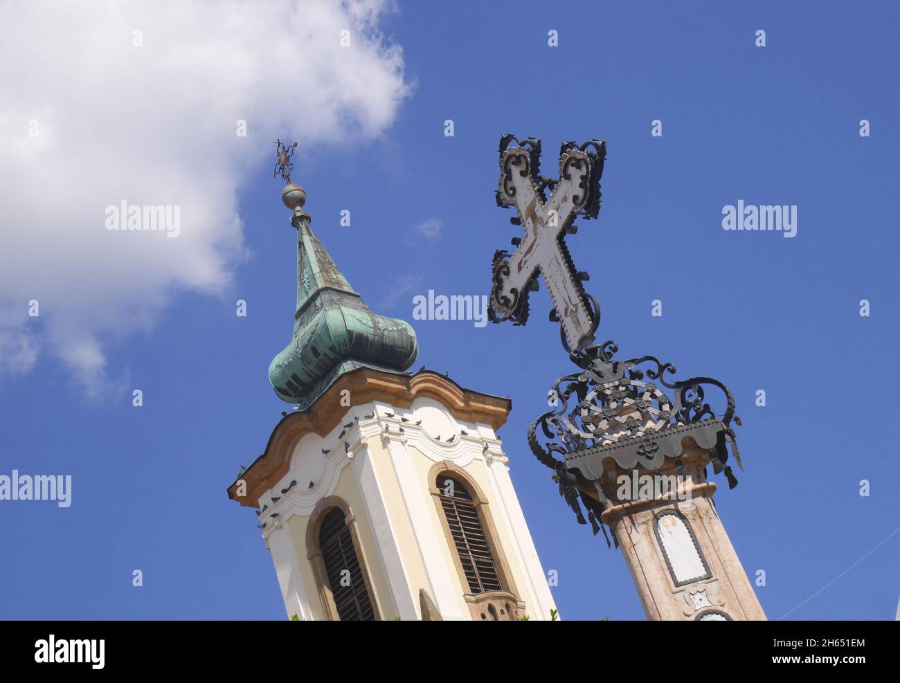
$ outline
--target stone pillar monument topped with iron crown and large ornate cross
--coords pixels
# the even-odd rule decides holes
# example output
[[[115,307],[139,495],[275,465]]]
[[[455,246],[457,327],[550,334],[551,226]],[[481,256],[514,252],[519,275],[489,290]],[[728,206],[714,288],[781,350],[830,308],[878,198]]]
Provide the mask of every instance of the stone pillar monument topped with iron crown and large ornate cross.
[[[595,341],[599,304],[585,292],[588,274],[575,269],[565,236],[576,217],[598,216],[606,153],[602,140],[564,142],[559,177],[546,178],[539,139],[500,139],[497,204],[516,210],[510,221],[524,236],[512,239],[511,255],[494,253],[491,321],[525,325],[541,275],[554,304],[550,319],[561,323],[563,347],[578,366],[548,392],[551,409],[528,429],[528,445],[554,470],[579,523],[602,530],[607,543],[612,530],[647,618],[765,619],[713,507],[716,484],[707,481],[711,465],[729,488],[737,484],[728,461],[741,466],[732,427],[741,421],[731,392],[709,377],[676,381],[675,366],[653,355],[614,360],[616,343]],[[705,398],[710,387],[722,392],[720,409]],[[638,491],[623,477],[668,483]]]

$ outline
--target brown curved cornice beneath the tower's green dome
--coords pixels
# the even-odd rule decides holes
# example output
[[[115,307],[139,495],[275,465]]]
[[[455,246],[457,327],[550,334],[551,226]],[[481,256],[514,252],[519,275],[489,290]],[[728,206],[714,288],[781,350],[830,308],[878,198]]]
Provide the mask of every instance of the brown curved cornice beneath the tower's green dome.
[[[349,406],[341,405],[344,391],[349,391]],[[259,507],[259,497],[289,471],[293,448],[301,437],[314,432],[324,438],[353,406],[384,401],[409,409],[419,397],[440,401],[457,420],[490,425],[495,431],[506,422],[512,409],[512,401],[507,398],[464,389],[434,371],[409,374],[360,367],[341,375],[309,409],[285,416],[269,436],[265,452],[229,485],[229,498],[245,507]],[[247,483],[246,496],[236,495],[238,481]]]

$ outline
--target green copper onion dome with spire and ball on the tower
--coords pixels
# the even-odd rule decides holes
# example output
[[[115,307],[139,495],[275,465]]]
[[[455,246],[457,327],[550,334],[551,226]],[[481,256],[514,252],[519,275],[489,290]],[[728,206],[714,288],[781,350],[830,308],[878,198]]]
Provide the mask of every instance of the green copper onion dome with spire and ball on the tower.
[[[310,229],[297,184],[282,191],[297,230],[297,310],[293,340],[269,365],[269,382],[286,401],[305,410],[343,373],[361,366],[403,371],[419,354],[410,324],[375,315]]]

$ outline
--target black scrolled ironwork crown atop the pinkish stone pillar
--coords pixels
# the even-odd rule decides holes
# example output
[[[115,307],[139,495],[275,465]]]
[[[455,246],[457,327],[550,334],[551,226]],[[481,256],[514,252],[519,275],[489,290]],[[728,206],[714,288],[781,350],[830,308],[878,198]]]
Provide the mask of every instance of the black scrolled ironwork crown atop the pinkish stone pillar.
[[[573,351],[570,357],[581,372],[554,382],[548,397],[556,409],[528,429],[532,453],[554,470],[560,495],[579,523],[587,524],[581,500],[595,534],[603,507],[575,484],[599,481],[605,458],[626,470],[658,470],[673,459],[678,472],[687,474],[680,455],[682,439],[690,436],[709,450],[713,472],[725,472],[728,488],[737,486],[729,457],[743,470],[732,427],[733,421],[740,426],[741,418],[734,414],[734,397],[725,384],[711,377],[675,381],[673,364],[653,355],[617,361],[617,351],[612,341]],[[718,410],[707,401],[710,388],[721,391]],[[547,439],[543,444],[538,428]]]

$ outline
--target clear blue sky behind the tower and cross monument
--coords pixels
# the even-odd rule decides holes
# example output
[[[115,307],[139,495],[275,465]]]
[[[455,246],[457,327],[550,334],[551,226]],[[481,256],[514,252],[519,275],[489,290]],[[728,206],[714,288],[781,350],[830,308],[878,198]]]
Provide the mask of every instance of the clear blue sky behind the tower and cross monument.
[[[568,238],[602,308],[598,337],[733,391],[747,472],[734,490],[716,478],[717,510],[744,569],[766,572],[756,591],[770,619],[892,619],[900,534],[842,572],[900,525],[898,21],[887,3],[400,2],[381,28],[415,87],[395,119],[361,143],[298,148],[312,228],[376,312],[414,323],[413,368],[512,399],[500,436],[563,618],[644,614],[620,553],[575,523],[527,448],[547,389],[573,367],[545,288],[525,328],[411,319],[428,289],[487,293],[494,249],[518,234],[494,201],[500,135],[543,139],[545,169],[563,140],[607,140],[599,219]],[[252,135],[304,140],[290,111],[314,111],[316,92],[271,79],[288,115]],[[0,617],[284,618],[255,517],[225,493],[289,409],[266,375],[295,296],[293,229],[270,171],[257,155],[240,166],[246,251],[226,286],[170,288],[146,326],[106,332],[125,391],[87,398],[52,355],[2,378],[0,473],[67,473],[74,490],[65,509],[0,501]],[[722,208],[738,200],[797,205],[797,237],[726,232]],[[415,231],[428,220],[443,226],[436,239]]]

